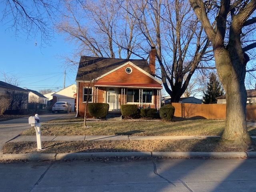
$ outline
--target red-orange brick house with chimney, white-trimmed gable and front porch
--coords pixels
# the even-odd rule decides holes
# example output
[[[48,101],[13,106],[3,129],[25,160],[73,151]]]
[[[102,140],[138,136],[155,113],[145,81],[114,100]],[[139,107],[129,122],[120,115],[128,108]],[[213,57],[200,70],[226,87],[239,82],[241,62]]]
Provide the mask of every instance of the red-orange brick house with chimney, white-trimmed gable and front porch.
[[[138,108],[160,108],[162,82],[155,78],[156,50],[147,60],[81,56],[76,82],[79,115],[84,114],[86,99],[108,103],[110,111],[120,112],[122,104]]]

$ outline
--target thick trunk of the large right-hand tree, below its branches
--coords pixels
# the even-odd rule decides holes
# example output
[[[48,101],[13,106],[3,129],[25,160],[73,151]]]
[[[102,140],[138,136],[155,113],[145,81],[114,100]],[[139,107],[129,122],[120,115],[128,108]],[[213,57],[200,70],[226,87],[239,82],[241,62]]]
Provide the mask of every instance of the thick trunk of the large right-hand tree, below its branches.
[[[226,92],[226,122],[222,139],[230,140],[234,145],[248,147],[252,142],[246,126],[246,60],[239,59],[239,56],[231,60],[230,50],[226,48],[214,50],[214,57],[220,81]]]

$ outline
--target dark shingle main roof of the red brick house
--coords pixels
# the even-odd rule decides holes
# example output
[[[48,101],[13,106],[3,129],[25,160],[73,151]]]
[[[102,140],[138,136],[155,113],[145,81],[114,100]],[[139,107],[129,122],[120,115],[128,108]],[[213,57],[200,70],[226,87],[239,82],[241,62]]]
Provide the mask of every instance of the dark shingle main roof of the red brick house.
[[[139,68],[141,68],[142,70],[146,71],[147,73],[153,75],[152,72],[150,71],[147,60],[81,56],[76,81],[88,81],[91,80],[91,78],[95,79],[129,61],[132,62],[134,65],[138,66]]]

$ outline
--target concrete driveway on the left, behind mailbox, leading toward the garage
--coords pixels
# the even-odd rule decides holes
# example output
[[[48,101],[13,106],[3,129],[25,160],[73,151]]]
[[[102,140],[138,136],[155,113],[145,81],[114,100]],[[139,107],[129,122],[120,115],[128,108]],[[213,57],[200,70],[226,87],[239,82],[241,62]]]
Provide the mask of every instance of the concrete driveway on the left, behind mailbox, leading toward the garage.
[[[71,114],[43,114],[40,115],[40,121],[46,122],[56,118],[66,118],[67,116],[74,116],[74,113]],[[0,122],[0,155],[2,154],[2,147],[4,144],[18,136],[22,131],[30,128],[28,124],[28,117],[12,119],[8,121]]]

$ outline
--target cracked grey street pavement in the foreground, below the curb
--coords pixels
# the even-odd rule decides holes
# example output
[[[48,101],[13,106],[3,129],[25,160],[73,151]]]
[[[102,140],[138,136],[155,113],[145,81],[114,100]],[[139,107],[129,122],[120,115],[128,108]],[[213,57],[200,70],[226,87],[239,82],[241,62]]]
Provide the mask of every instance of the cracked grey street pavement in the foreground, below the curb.
[[[3,192],[255,192],[255,159],[12,162]]]

